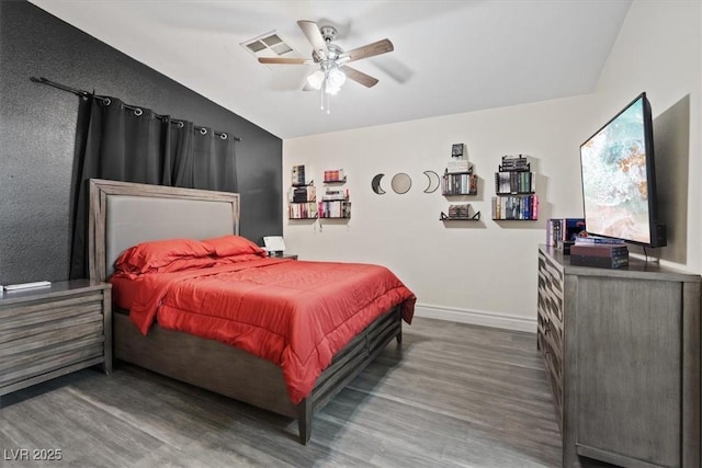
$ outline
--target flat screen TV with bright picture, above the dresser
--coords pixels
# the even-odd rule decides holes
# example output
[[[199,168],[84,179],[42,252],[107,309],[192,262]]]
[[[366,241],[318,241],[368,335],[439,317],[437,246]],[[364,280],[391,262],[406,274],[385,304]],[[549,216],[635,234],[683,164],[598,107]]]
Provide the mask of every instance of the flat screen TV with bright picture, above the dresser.
[[[664,247],[658,222],[650,104],[646,93],[580,146],[582,203],[588,235]]]

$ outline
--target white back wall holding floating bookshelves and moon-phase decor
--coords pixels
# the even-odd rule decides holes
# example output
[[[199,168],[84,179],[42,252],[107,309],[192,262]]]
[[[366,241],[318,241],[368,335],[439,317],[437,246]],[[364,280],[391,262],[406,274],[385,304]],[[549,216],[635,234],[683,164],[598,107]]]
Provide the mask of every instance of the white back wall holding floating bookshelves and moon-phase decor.
[[[545,219],[581,216],[578,148],[593,130],[582,125],[590,119],[587,102],[564,99],[285,140],[285,174],[305,164],[320,194],[324,170],[343,168],[352,199],[347,222],[285,220],[288,250],[307,260],[385,264],[417,294],[420,315],[535,330]],[[478,195],[465,198],[482,213],[479,222],[441,222],[451,201],[423,192],[423,171],[443,173],[454,142],[467,145],[479,178]],[[495,172],[503,155],[517,153],[529,155],[537,174],[540,220],[498,224],[490,219]],[[404,195],[389,186],[398,172],[412,179]],[[371,190],[376,173],[386,174],[384,195]]]

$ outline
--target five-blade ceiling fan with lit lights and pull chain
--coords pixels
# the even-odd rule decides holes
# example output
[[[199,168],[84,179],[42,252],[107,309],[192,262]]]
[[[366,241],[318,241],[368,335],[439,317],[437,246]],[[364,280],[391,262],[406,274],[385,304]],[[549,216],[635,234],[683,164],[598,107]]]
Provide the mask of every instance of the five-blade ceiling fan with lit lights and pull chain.
[[[393,43],[389,39],[381,39],[349,52],[343,52],[341,47],[332,43],[337,37],[337,30],[333,26],[318,26],[314,21],[306,20],[298,21],[297,25],[307,37],[307,41],[313,45],[312,59],[259,57],[259,61],[261,64],[318,65],[319,69],[307,77],[307,84],[303,90],[321,90],[322,110],[325,109],[325,94],[338,93],[347,78],[366,88],[372,88],[377,84],[378,80],[376,78],[359,71],[355,68],[351,68],[347,64],[393,52]],[[327,113],[328,112],[329,110],[327,109]]]

